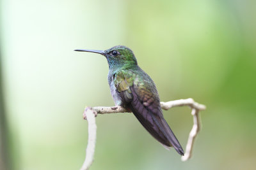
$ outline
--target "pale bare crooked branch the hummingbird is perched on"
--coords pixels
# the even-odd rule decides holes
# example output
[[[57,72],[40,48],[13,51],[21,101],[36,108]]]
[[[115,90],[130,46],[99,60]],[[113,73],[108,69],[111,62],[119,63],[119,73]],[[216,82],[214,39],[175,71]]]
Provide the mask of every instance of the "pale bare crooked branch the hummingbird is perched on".
[[[163,110],[169,110],[172,107],[176,106],[189,106],[192,111],[191,115],[193,115],[193,127],[189,133],[188,143],[186,145],[186,152],[184,156],[181,157],[182,161],[186,161],[191,157],[191,153],[193,150],[193,145],[195,143],[195,138],[200,131],[200,117],[199,111],[205,110],[205,106],[203,104],[196,103],[193,99],[180,99],[176,101],[168,101],[166,103],[161,102],[161,108]],[[95,143],[96,143],[96,130],[97,126],[95,124],[95,116],[98,114],[106,114],[106,113],[129,113],[130,110],[122,108],[121,106],[113,106],[113,107],[93,107],[86,108],[84,110],[84,119],[88,120],[88,145],[86,148],[86,158],[84,160],[84,164],[81,167],[81,170],[89,169],[93,162],[93,155],[95,151]]]

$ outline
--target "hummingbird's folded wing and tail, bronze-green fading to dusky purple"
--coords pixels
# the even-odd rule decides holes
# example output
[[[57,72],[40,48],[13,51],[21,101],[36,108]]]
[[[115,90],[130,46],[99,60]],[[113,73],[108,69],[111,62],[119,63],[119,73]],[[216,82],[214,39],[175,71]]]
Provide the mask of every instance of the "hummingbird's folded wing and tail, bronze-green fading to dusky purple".
[[[143,78],[133,71],[125,70],[114,74],[113,80],[124,105],[132,110],[143,127],[165,148],[173,146],[183,155],[179,141],[164,120],[156,87],[148,78],[146,73]]]

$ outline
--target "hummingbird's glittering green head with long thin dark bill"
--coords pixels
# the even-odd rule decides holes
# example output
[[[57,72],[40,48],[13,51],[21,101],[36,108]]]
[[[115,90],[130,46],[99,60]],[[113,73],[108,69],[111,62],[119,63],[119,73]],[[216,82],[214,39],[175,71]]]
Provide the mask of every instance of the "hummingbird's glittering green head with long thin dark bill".
[[[130,48],[126,46],[118,45],[109,48],[108,50],[75,50],[78,52],[93,52],[104,55],[108,60],[109,69],[116,69],[118,67],[130,67],[136,66],[137,60]]]

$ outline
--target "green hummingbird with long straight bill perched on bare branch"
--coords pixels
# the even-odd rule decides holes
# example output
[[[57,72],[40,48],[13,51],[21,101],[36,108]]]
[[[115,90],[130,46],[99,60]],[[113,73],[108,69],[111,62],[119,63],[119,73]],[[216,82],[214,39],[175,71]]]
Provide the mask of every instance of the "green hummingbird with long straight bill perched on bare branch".
[[[164,148],[184,155],[182,146],[163,117],[160,99],[154,81],[143,71],[134,53],[126,46],[118,45],[108,50],[75,50],[99,53],[108,60],[108,83],[116,106],[132,111],[145,129]]]

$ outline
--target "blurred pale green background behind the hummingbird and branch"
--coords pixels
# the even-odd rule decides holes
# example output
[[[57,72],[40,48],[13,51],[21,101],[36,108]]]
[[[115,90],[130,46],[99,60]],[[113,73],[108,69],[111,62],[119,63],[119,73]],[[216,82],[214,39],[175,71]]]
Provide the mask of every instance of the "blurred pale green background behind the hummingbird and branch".
[[[0,169],[79,169],[84,106],[113,106],[104,57],[131,48],[161,101],[205,104],[193,158],[132,114],[99,115],[91,169],[255,169],[256,1],[1,1]],[[189,108],[164,111],[185,148]],[[4,167],[5,166],[5,167]]]

